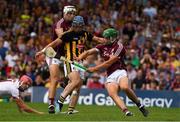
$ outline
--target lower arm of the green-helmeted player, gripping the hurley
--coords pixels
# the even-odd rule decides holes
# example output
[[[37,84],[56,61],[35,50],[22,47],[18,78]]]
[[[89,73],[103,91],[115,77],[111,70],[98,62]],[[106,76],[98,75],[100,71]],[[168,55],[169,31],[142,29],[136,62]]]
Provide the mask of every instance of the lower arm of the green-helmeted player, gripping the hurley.
[[[115,56],[115,55],[111,55],[110,56],[110,58],[109,58],[109,60],[107,60],[107,61],[105,61],[105,62],[103,62],[103,63],[101,63],[101,64],[99,64],[99,65],[97,65],[97,66],[95,66],[95,67],[90,67],[90,68],[88,68],[88,71],[90,71],[90,72],[96,72],[96,71],[98,71],[98,70],[100,70],[100,69],[107,69],[108,67],[110,67],[113,63],[115,63],[117,60],[119,60],[119,58],[117,57],[117,56]]]

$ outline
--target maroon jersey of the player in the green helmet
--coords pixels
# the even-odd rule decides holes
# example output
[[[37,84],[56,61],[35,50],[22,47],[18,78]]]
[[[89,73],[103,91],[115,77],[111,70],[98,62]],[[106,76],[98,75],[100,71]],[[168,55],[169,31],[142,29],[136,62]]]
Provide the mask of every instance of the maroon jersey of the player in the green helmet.
[[[96,46],[96,48],[99,50],[101,57],[104,58],[105,61],[109,60],[110,55],[116,55],[119,58],[119,60],[117,60],[109,68],[107,68],[108,76],[118,69],[126,70],[126,66],[124,63],[126,50],[119,41],[116,41],[113,44],[109,45],[98,45]]]

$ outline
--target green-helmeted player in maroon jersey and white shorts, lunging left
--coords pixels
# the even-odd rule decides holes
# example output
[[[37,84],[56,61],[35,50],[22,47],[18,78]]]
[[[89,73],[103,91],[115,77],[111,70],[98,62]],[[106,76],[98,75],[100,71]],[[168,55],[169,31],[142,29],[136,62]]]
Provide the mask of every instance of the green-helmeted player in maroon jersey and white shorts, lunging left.
[[[100,65],[88,68],[88,71],[96,72],[101,68],[106,68],[108,77],[105,87],[115,104],[125,113],[126,116],[133,115],[133,113],[128,110],[123,100],[118,96],[118,91],[123,90],[126,95],[138,106],[142,114],[147,117],[148,111],[140,103],[137,96],[128,85],[127,71],[124,63],[126,50],[120,40],[117,39],[118,32],[113,28],[109,28],[104,30],[103,36],[109,40],[106,44],[98,45],[96,48],[85,51],[77,59],[82,60],[88,55],[100,53],[105,61]]]

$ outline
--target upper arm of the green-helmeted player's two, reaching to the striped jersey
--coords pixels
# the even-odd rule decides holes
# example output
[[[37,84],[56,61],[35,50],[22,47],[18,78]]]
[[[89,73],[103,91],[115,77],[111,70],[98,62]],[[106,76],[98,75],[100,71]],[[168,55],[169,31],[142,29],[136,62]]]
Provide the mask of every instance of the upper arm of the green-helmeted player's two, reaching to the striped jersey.
[[[87,56],[98,53],[99,50],[97,48],[92,48],[90,50],[84,51],[82,54],[79,55],[79,57],[77,57],[77,60],[80,61],[82,59],[86,59]]]

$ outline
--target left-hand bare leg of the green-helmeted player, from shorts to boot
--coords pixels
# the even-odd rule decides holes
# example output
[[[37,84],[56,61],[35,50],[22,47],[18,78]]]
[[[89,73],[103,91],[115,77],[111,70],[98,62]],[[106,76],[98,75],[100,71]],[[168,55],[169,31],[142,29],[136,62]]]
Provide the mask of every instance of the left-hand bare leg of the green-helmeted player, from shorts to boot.
[[[108,82],[105,84],[105,87],[108,91],[109,96],[113,99],[115,104],[125,113],[126,116],[132,116],[133,114],[128,111],[123,100],[118,96],[119,86],[117,83]]]

